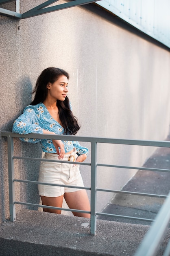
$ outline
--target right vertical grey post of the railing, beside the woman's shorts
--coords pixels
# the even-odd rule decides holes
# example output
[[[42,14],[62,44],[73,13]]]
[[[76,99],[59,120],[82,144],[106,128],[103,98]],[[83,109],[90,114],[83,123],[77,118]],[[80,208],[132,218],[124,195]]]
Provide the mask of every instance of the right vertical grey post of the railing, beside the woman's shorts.
[[[96,180],[97,180],[97,143],[91,142],[91,219],[90,234],[96,236]]]

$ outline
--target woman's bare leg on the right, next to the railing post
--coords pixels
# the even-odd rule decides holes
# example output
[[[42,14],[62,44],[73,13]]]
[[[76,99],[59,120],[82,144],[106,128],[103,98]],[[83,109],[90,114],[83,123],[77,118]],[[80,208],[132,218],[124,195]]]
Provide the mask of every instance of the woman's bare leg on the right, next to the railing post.
[[[70,209],[90,211],[89,198],[87,192],[82,189],[75,192],[65,193],[64,198]],[[90,213],[73,212],[74,216],[90,218]]]

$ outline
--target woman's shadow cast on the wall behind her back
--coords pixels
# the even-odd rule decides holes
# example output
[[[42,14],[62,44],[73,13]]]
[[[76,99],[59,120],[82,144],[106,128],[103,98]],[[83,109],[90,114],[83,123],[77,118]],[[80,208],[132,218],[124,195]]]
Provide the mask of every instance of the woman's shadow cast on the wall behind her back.
[[[20,109],[21,114],[26,106],[28,106],[32,101],[32,83],[31,79],[28,76],[24,76],[20,83]],[[17,154],[20,154],[22,157],[42,157],[42,149],[40,144],[26,143],[18,141],[20,144],[20,151],[15,148]],[[39,176],[39,161],[32,160],[19,160],[17,163],[16,173],[21,180],[38,180]],[[18,195],[19,200],[22,202],[39,204],[40,197],[38,195],[37,184],[29,183],[19,183],[20,186],[20,195]],[[37,210],[38,207],[28,206],[28,209]]]

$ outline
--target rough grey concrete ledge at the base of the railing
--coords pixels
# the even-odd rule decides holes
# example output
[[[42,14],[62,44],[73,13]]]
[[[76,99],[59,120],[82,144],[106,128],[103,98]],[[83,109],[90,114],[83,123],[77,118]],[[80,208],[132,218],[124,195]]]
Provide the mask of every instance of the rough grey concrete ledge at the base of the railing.
[[[0,227],[3,256],[133,256],[149,226],[97,220],[97,236],[90,236],[89,219],[22,210],[15,223]],[[170,229],[157,256],[161,256]]]

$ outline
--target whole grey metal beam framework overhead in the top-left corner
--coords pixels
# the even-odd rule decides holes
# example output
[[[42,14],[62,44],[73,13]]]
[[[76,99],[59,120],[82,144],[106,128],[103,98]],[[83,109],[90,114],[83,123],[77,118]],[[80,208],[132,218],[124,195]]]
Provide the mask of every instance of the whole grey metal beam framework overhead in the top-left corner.
[[[7,3],[7,2],[12,2],[13,0],[0,0],[0,4],[2,3]],[[90,4],[94,3],[100,0],[72,0],[70,2],[64,3],[64,4],[58,4],[52,7],[47,7],[50,4],[53,4],[54,2],[58,2],[59,0],[48,0],[37,7],[34,7],[33,9],[30,9],[29,11],[26,11],[25,13],[17,13],[15,11],[9,11],[7,9],[0,8],[0,14],[4,16],[8,16],[11,18],[17,18],[17,19],[25,19],[25,18],[30,18],[34,16],[38,16],[41,14],[45,13],[50,13],[53,11],[59,11],[63,9],[67,9],[70,7],[76,7],[84,4]],[[45,8],[46,7],[46,8]]]

